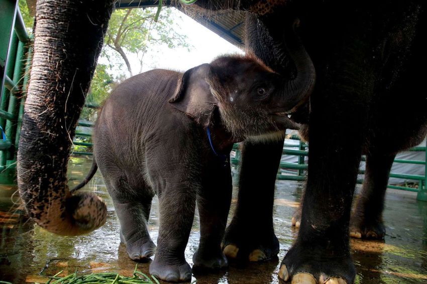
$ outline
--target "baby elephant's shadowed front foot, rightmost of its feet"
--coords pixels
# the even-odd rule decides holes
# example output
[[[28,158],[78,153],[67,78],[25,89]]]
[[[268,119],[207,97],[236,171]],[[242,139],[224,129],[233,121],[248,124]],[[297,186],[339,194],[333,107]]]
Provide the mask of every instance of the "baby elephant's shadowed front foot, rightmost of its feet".
[[[194,270],[219,270],[228,266],[228,260],[221,248],[212,251],[207,246],[199,245],[193,255]]]

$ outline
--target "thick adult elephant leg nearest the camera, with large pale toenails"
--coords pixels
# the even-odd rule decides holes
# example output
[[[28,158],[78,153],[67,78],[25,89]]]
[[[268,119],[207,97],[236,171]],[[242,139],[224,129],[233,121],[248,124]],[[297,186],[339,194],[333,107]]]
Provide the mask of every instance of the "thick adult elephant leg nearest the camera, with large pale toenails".
[[[322,98],[329,102],[325,96]],[[330,117],[325,117],[326,107],[319,112],[313,107],[301,224],[297,240],[279,271],[279,277],[285,281],[324,283],[331,277],[328,284],[354,281],[348,230],[364,135],[364,124],[359,121],[366,116],[362,105],[351,105],[355,111],[326,111],[335,114]],[[325,120],[332,116],[336,116],[335,129],[339,131],[325,134],[324,125],[331,123]]]

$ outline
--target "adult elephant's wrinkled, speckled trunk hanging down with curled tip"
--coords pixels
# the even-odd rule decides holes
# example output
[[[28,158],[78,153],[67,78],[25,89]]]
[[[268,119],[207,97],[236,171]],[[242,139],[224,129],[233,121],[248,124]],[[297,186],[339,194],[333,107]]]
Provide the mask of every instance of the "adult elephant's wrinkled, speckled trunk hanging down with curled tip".
[[[105,222],[94,194],[72,196],[67,163],[113,0],[38,0],[33,66],[18,152],[18,186],[46,230],[78,235]]]

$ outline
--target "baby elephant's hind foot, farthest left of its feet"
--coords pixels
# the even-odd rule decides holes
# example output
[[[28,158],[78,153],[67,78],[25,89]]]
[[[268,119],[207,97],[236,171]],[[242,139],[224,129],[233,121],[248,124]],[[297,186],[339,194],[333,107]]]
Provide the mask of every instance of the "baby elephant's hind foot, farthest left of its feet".
[[[120,234],[120,240],[126,244],[126,251],[134,261],[148,261],[156,250],[156,245],[150,237],[139,238],[137,240],[131,238],[125,241],[125,237]]]

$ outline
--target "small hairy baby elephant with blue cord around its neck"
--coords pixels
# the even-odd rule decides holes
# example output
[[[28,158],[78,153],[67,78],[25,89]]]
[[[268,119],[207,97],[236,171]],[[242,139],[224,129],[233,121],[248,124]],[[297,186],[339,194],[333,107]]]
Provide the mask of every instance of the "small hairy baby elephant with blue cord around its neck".
[[[293,85],[306,76],[301,72],[285,81],[252,55],[222,56],[185,73],[136,75],[105,101],[94,127],[96,162],[78,187],[99,167],[129,257],[141,260],[155,252],[150,273],[167,281],[191,278],[184,249],[197,201],[200,243],[194,267],[225,267],[221,241],[231,202],[233,144],[296,128],[286,113],[306,98]],[[157,249],[147,230],[155,194]]]

